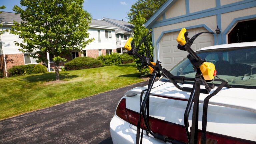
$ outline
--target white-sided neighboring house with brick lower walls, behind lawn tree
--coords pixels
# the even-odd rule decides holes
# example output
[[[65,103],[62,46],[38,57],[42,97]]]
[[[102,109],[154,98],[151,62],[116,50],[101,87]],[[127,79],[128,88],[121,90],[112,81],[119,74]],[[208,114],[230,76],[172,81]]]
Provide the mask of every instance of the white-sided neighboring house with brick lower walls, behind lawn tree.
[[[114,22],[110,23],[105,20],[95,20],[92,19],[90,24],[89,38],[94,38],[94,41],[89,43],[83,52],[77,52],[75,50],[71,51],[71,55],[65,56],[65,58],[70,61],[79,56],[88,56],[97,58],[100,55],[111,54],[114,52],[122,53],[123,43],[126,39],[131,37],[132,24],[125,21],[112,20]],[[0,14],[0,22],[3,24],[1,30],[10,30],[13,25],[13,21],[21,22],[20,15],[15,15],[11,12],[2,12]],[[119,40],[116,40],[116,35],[120,37],[122,44],[119,45]],[[18,49],[19,47],[15,45],[14,41],[22,42],[18,35],[10,34],[9,32],[4,32],[0,35],[0,72],[7,76],[7,71],[15,65],[26,65],[26,64],[37,64],[36,60],[32,57],[27,57],[28,53],[22,53]],[[120,50],[119,50],[120,49]],[[48,53],[45,54],[49,64],[44,64],[48,68],[48,71],[54,67],[54,62],[52,61],[53,56]],[[61,63],[60,65],[64,65]]]

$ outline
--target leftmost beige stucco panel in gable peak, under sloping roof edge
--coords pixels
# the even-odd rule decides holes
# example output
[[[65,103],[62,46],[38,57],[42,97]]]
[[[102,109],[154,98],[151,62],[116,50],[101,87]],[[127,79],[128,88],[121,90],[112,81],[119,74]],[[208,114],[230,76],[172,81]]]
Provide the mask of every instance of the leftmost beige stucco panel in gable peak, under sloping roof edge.
[[[185,0],[178,0],[172,7],[165,12],[166,19],[186,14]]]

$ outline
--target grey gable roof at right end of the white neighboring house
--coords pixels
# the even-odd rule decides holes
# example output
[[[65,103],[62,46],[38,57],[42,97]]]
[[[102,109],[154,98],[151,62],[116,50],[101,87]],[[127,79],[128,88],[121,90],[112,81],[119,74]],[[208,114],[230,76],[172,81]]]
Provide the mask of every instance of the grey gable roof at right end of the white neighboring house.
[[[131,23],[128,23],[126,21],[110,19],[110,18],[103,18],[102,20],[120,27],[118,29],[118,31],[120,32],[131,32],[132,29],[134,28]]]

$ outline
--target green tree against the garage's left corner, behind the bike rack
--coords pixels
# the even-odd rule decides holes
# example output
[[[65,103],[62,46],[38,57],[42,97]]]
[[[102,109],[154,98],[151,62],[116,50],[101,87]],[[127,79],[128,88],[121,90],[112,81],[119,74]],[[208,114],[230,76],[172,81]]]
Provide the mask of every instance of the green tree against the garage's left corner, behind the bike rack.
[[[134,39],[135,45],[137,46],[149,31],[144,26],[142,26],[164,3],[166,0],[138,0],[134,3],[128,13],[129,22],[134,25]],[[147,44],[150,50],[151,60],[153,60],[153,49],[152,46],[152,35],[147,37]],[[144,44],[142,44],[139,53],[141,55],[146,55],[146,50]],[[135,59],[135,65],[140,72],[148,73],[149,69],[143,68],[141,61]]]

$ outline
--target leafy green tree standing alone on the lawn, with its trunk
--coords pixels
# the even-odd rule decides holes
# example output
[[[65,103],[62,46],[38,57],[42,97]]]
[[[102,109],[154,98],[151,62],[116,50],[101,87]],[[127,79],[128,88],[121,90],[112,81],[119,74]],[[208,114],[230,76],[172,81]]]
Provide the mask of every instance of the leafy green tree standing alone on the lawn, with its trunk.
[[[19,35],[23,53],[37,58],[37,62],[48,62],[45,53],[53,55],[56,80],[59,80],[59,64],[66,61],[63,57],[71,55],[71,50],[81,51],[93,39],[88,29],[91,15],[83,10],[83,0],[21,0],[22,10],[17,5],[13,10],[20,14],[21,23],[14,22],[11,33]]]

